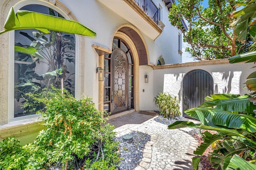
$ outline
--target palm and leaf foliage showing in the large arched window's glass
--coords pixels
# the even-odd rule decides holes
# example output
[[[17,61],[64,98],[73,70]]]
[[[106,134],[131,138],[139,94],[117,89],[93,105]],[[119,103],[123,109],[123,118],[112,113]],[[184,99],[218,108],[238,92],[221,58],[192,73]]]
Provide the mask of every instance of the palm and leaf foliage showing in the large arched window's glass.
[[[24,95],[26,93],[45,97],[48,91],[52,90],[51,85],[53,85],[54,88],[61,88],[61,86],[63,86],[74,95],[74,73],[72,73],[74,69],[72,70],[67,66],[67,63],[75,63],[74,35],[67,35],[56,31],[50,31],[48,34],[33,31],[34,37],[31,37],[28,33],[21,31],[19,33],[32,42],[30,45],[16,44],[15,60],[30,61],[32,57],[35,61],[30,65],[15,65],[15,70],[19,75],[17,76],[18,79],[15,80],[14,98],[16,98],[18,102],[20,98],[26,100],[26,106],[22,106],[22,108],[24,108],[24,114],[34,114],[39,109],[44,108],[40,104],[36,106],[38,102],[32,100],[32,98],[27,98],[28,96]],[[19,49],[17,49],[18,47]],[[31,48],[36,51],[36,54],[40,55],[40,57],[38,57],[38,55],[33,56],[34,51],[24,52]],[[40,69],[38,67],[40,63],[48,64],[48,68],[41,70],[45,72],[42,75],[36,73],[36,71]]]

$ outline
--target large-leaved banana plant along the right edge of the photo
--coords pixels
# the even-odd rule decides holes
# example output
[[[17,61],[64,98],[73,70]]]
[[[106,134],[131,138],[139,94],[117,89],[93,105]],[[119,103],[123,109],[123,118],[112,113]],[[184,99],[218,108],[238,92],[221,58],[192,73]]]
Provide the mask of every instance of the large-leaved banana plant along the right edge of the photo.
[[[255,1],[245,1],[237,6],[244,6],[232,14],[234,17],[238,17],[233,23],[236,25],[234,31],[239,34],[238,39],[244,41],[248,29],[250,36],[255,41]],[[229,62],[256,62],[255,47],[254,43],[252,45],[254,51],[230,57]],[[212,94],[206,96],[206,102],[198,108],[185,111],[187,115],[200,120],[201,123],[176,121],[168,126],[168,129],[195,127],[206,130],[202,133],[204,142],[194,152],[198,155],[192,159],[194,170],[198,169],[200,156],[210,145],[213,147],[213,152],[210,154],[212,167],[222,170],[256,169],[256,72],[252,72],[247,77],[246,86],[250,90],[249,94],[242,96]]]

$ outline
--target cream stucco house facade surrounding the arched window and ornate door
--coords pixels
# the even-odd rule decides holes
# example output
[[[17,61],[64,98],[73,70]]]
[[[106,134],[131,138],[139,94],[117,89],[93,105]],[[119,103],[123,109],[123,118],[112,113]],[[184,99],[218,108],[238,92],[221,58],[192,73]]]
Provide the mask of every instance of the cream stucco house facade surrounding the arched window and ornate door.
[[[14,11],[17,11],[28,4],[40,4],[56,10],[67,19],[79,21],[93,29],[97,33],[95,38],[76,35],[76,96],[79,99],[82,94],[88,95],[93,98],[93,102],[98,107],[99,82],[96,68],[99,66],[99,54],[92,45],[98,45],[111,51],[114,35],[122,25],[129,25],[134,28],[138,35],[141,35],[141,39],[143,39],[143,43],[146,46],[148,64],[156,64],[156,60],[160,55],[166,64],[181,63],[181,56],[178,54],[178,33],[180,31],[170,25],[168,8],[166,8],[164,2],[162,0],[154,0],[154,3],[157,7],[159,5],[162,6],[161,21],[165,25],[162,33],[156,39],[148,37],[144,30],[138,29],[136,25],[132,25],[120,17],[99,0],[0,0],[0,28],[3,28],[12,6]],[[12,131],[18,131],[28,120],[29,122],[34,122],[35,119],[33,118],[37,117],[37,115],[20,117],[19,119],[10,117],[13,114],[10,108],[13,108],[12,103],[14,100],[13,88],[10,88],[14,86],[14,32],[11,31],[0,35],[0,44],[0,55],[2,57],[2,62],[0,63],[0,129],[5,128],[6,130],[2,131],[2,134],[6,135],[10,133],[10,127],[13,127]],[[139,67],[134,74],[136,75],[136,84],[138,84],[136,85],[135,96],[138,100],[136,102],[139,104],[135,104],[138,105],[136,109],[152,110],[154,109],[153,98],[155,91],[158,91],[158,86],[162,84],[163,87],[164,84],[160,82],[158,86],[155,85],[154,78],[156,74],[151,66],[139,66],[137,62],[136,67]],[[144,82],[145,74],[149,75],[149,83]],[[154,90],[155,86],[157,90]],[[25,121],[25,119],[27,120]],[[19,135],[25,134],[27,131],[29,129],[22,130]]]

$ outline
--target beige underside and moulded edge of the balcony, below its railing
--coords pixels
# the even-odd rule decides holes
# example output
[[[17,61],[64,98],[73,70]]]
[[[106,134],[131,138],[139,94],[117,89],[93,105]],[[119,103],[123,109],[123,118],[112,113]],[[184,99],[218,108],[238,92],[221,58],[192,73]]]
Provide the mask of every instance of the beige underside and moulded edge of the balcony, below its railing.
[[[98,0],[118,16],[137,27],[142,33],[155,40],[162,29],[134,2],[134,0]]]

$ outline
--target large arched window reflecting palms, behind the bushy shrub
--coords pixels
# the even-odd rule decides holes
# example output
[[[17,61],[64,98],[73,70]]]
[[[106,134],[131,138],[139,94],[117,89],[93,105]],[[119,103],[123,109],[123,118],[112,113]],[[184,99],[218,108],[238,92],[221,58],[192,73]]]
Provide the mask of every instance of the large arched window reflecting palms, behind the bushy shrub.
[[[38,4],[20,8],[64,18],[55,10]],[[24,94],[46,96],[54,88],[66,88],[74,95],[75,35],[36,29],[16,30],[14,33],[14,118],[35,114],[40,104]],[[26,52],[24,52],[26,51]],[[33,55],[30,51],[35,52]],[[28,105],[24,105],[29,101]]]

